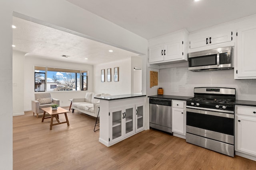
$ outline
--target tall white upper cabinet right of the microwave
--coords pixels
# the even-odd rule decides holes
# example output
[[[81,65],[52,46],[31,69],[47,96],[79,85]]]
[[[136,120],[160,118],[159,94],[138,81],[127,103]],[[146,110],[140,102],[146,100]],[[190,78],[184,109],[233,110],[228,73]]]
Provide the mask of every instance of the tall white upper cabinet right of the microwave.
[[[237,64],[235,79],[256,78],[256,25],[247,26],[237,31]]]

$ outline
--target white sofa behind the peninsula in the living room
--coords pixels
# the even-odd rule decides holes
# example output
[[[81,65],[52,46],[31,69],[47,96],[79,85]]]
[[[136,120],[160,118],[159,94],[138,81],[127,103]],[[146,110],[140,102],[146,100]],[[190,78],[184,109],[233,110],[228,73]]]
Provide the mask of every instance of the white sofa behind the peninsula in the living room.
[[[100,100],[94,99],[94,97],[110,96],[110,94],[95,94],[94,92],[87,92],[85,98],[74,98],[72,100],[72,113],[74,110],[81,111],[87,115],[97,117]]]

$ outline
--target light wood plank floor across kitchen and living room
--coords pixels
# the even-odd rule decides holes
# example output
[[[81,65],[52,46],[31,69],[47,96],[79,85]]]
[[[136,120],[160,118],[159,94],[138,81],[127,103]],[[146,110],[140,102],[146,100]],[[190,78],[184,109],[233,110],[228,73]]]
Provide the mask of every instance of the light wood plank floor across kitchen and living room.
[[[67,107],[68,108],[68,107]],[[256,161],[232,158],[155,130],[106,147],[95,118],[68,113],[70,126],[42,123],[32,112],[13,117],[14,170],[256,170]],[[64,121],[64,114],[60,121]]]

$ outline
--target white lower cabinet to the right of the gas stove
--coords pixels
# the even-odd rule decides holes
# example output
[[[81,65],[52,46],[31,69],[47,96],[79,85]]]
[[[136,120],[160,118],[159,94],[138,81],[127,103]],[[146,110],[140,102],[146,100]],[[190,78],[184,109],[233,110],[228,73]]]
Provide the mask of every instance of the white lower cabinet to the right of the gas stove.
[[[256,107],[236,106],[235,110],[235,150],[238,152],[256,156]],[[255,160],[255,157],[250,159]]]

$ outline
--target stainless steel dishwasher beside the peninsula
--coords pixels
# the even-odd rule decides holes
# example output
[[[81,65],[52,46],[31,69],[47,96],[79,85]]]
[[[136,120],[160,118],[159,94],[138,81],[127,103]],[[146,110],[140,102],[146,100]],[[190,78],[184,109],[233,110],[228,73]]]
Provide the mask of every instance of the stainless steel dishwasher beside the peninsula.
[[[149,98],[149,126],[172,133],[172,100]]]

